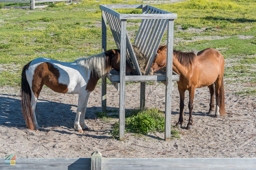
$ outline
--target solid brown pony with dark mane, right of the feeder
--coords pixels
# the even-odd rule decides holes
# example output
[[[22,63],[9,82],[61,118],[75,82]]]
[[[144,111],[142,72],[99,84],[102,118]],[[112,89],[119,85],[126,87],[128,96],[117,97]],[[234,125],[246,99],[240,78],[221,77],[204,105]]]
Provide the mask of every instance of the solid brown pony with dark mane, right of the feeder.
[[[151,66],[152,72],[156,72],[160,68],[166,66],[167,45],[159,46],[155,60]],[[222,54],[213,49],[206,48],[197,53],[181,52],[173,50],[173,71],[180,75],[178,90],[180,93],[180,117],[176,126],[181,127],[183,123],[183,109],[185,91],[189,92],[189,121],[186,129],[193,128],[192,110],[195,88],[208,86],[211,94],[210,109],[208,114],[214,114],[214,82],[216,108],[215,117],[225,114],[225,96],[224,96],[224,58]]]

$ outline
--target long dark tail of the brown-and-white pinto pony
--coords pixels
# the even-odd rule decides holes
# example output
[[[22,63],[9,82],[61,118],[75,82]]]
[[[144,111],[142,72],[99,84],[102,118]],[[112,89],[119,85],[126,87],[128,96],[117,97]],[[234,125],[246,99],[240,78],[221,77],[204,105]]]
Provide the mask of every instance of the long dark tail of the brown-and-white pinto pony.
[[[31,90],[26,77],[26,69],[30,63],[26,64],[23,67],[21,73],[21,87],[20,87],[20,96],[21,96],[21,112],[26,121],[26,124],[29,129],[35,130],[33,124],[33,113],[31,109]]]

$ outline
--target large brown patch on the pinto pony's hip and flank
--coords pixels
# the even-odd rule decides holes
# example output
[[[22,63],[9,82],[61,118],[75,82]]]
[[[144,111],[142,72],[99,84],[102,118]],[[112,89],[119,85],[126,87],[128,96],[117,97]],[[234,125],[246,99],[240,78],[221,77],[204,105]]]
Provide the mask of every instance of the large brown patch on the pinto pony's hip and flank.
[[[44,84],[55,92],[67,93],[68,86],[66,84],[60,84],[58,81],[59,77],[59,70],[51,63],[45,62],[39,64],[35,69],[32,81],[32,91],[36,98],[38,98]]]

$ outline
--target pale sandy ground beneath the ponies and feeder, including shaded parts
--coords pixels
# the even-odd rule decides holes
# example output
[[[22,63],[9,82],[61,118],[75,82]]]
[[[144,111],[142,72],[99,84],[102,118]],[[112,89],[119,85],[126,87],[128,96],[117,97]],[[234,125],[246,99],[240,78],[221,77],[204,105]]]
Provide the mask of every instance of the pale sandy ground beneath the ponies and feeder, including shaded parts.
[[[126,140],[111,138],[113,122],[102,122],[93,114],[101,110],[101,87],[91,93],[85,123],[89,130],[78,133],[73,130],[76,116],[77,95],[52,92],[44,88],[37,103],[37,121],[41,131],[26,129],[20,111],[17,88],[0,90],[0,157],[15,154],[20,158],[88,158],[98,150],[103,157],[256,157],[256,98],[236,96],[239,90],[226,84],[227,115],[215,118],[207,115],[209,109],[208,88],[196,89],[194,99],[194,129],[185,130],[188,123],[188,93],[185,99],[185,122],[180,129],[180,139],[164,141],[164,133],[148,136],[127,133]],[[172,125],[179,117],[177,84],[172,92]],[[118,109],[119,93],[108,85],[107,106]],[[139,83],[126,85],[127,109],[139,106]],[[150,94],[148,95],[148,93]],[[164,110],[165,86],[160,83],[147,85],[146,105]],[[117,120],[117,119],[116,119]],[[134,145],[136,144],[136,145]]]

